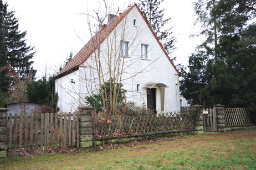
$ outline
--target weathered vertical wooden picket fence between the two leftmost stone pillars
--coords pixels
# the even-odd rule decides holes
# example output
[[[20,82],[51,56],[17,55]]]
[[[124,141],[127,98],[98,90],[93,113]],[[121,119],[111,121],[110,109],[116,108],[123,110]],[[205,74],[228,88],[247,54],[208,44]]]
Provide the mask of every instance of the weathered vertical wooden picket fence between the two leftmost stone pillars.
[[[76,113],[9,114],[8,120],[9,156],[21,150],[79,146]]]

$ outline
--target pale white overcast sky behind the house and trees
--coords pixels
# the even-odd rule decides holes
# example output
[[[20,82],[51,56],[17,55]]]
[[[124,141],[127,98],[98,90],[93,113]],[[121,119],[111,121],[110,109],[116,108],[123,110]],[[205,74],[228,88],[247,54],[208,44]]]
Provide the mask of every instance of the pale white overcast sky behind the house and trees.
[[[86,25],[86,16],[81,13],[92,13],[98,9],[101,0],[3,0],[9,4],[8,10],[16,11],[19,20],[19,30],[27,31],[27,45],[35,46],[33,67],[38,71],[37,78],[55,73],[59,66],[68,58],[70,52],[73,56],[90,39]],[[107,2],[112,2],[107,0]],[[115,10],[123,12],[127,4],[138,0],[119,0],[114,2]],[[189,38],[198,31],[193,23],[196,19],[192,0],[165,0],[165,17],[171,18],[167,27],[172,27],[173,36],[177,39],[176,50],[170,55],[171,59],[177,57],[175,65],[182,63],[187,66],[188,56],[194,52],[202,38]],[[79,37],[78,37],[79,35]],[[83,40],[83,41],[81,41]]]

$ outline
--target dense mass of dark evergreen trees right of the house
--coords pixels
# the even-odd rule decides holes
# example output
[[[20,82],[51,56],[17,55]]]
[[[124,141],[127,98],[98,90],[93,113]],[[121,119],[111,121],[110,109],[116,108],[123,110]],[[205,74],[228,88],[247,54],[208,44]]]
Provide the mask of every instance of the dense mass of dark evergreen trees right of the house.
[[[213,9],[209,11],[203,8],[202,4],[209,4]],[[207,36],[206,42],[190,57],[189,72],[182,72],[183,95],[191,99],[192,104],[199,103],[211,107],[212,104],[221,103],[227,107],[249,107],[250,110],[255,111],[255,1],[199,0],[195,7],[201,11],[197,14],[203,24],[202,33],[210,34],[204,34]],[[212,34],[214,20],[217,36]],[[217,43],[209,41],[214,37],[217,37]],[[214,59],[210,57],[213,54],[215,54]],[[197,61],[201,60],[202,56],[205,60],[200,61],[202,64],[198,65]],[[205,71],[198,72],[200,70]],[[195,84],[197,79],[201,80],[200,86]],[[198,100],[198,96],[202,95],[203,100]]]

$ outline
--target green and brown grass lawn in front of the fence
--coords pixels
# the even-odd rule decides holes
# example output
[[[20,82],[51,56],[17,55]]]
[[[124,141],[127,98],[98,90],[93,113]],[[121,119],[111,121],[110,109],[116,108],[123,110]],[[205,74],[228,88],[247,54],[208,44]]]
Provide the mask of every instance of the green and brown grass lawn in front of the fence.
[[[256,169],[256,129],[106,151],[12,157],[0,169]]]

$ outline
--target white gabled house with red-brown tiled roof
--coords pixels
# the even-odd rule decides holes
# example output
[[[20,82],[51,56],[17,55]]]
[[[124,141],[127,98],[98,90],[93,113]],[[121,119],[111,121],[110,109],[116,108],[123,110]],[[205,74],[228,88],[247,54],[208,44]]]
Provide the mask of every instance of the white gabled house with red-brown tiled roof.
[[[111,69],[123,68],[121,83],[127,102],[146,104],[157,113],[180,110],[178,70],[136,4],[118,16],[110,14],[108,24],[55,76],[60,110],[74,111],[85,105],[85,96],[98,88],[99,70],[106,80],[112,71],[107,60],[114,65],[115,57],[122,59],[122,66]]]

